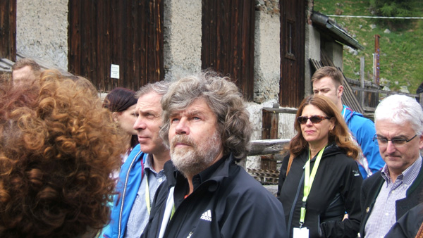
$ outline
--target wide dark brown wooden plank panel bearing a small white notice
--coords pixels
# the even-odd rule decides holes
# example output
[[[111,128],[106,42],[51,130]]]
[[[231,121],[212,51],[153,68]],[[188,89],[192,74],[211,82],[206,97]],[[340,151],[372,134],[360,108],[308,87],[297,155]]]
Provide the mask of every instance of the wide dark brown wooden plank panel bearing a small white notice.
[[[102,92],[163,80],[163,8],[161,0],[69,1],[69,70]]]

